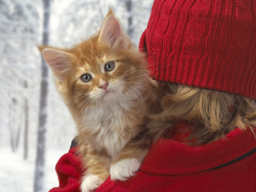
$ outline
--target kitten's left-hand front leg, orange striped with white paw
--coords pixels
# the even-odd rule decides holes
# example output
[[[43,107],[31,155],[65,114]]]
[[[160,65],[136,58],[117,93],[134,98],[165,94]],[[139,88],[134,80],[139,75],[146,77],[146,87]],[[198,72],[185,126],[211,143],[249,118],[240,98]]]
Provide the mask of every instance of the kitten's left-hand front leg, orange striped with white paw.
[[[82,178],[81,191],[90,192],[97,189],[109,176],[110,158],[105,151],[90,150],[85,155],[85,176]]]

